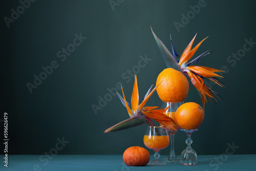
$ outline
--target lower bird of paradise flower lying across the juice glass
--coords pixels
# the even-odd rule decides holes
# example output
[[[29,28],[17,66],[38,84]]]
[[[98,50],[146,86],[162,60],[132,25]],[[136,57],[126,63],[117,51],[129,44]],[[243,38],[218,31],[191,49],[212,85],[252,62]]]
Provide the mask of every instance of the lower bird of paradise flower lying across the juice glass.
[[[168,116],[166,116],[164,113],[168,109],[161,109],[158,106],[144,106],[147,102],[147,100],[151,97],[151,95],[156,90],[157,86],[151,91],[153,85],[151,88],[147,91],[146,95],[144,96],[144,100],[141,104],[139,104],[139,91],[138,91],[138,84],[137,84],[137,76],[135,75],[135,81],[134,81],[134,87],[133,87],[133,93],[132,93],[132,106],[126,101],[123,88],[123,98],[120,96],[119,93],[117,93],[118,97],[120,98],[122,104],[127,109],[127,112],[130,116],[129,119],[126,119],[122,122],[119,122],[115,124],[114,126],[111,126],[109,129],[106,129],[104,133],[119,131],[128,129],[130,127],[142,125],[142,124],[148,124],[150,126],[154,126],[154,123],[152,122],[152,119],[159,122],[163,126],[166,126],[169,131],[177,131],[174,126],[171,124],[171,122],[174,122],[174,120]],[[144,116],[144,115],[145,116]],[[175,122],[174,122],[175,123]]]

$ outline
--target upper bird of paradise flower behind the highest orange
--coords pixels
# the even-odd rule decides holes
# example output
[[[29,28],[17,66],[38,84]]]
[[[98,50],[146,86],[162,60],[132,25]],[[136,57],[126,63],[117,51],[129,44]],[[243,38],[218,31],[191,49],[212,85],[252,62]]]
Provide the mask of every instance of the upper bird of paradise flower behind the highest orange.
[[[189,76],[191,82],[193,83],[195,88],[201,94],[203,107],[205,106],[205,101],[207,102],[206,96],[209,98],[210,101],[211,101],[211,98],[214,98],[217,101],[217,99],[213,96],[213,94],[216,95],[216,97],[218,97],[219,94],[216,93],[215,91],[211,90],[208,86],[206,86],[203,78],[206,78],[206,79],[209,79],[210,81],[215,82],[220,87],[224,87],[223,84],[220,81],[218,81],[219,78],[217,78],[217,77],[222,77],[222,76],[215,73],[215,72],[223,72],[223,71],[217,70],[214,68],[203,67],[203,66],[191,66],[193,64],[193,62],[196,64],[201,57],[208,55],[212,52],[205,51],[204,53],[202,53],[201,55],[196,57],[194,60],[191,60],[190,62],[188,62],[188,60],[195,54],[195,52],[198,50],[198,48],[200,47],[202,42],[207,37],[204,38],[202,41],[200,41],[199,44],[191,50],[191,48],[193,46],[193,42],[197,36],[197,34],[196,34],[195,37],[190,41],[190,43],[188,44],[186,49],[181,54],[180,59],[176,60],[176,57],[178,57],[179,55],[177,54],[176,50],[174,49],[172,37],[170,36],[170,42],[172,45],[174,56],[164,46],[163,42],[156,36],[152,27],[151,27],[151,31],[156,39],[157,45],[162,53],[162,56],[166,63],[166,66],[168,68],[176,69],[176,70],[182,72],[184,75]]]

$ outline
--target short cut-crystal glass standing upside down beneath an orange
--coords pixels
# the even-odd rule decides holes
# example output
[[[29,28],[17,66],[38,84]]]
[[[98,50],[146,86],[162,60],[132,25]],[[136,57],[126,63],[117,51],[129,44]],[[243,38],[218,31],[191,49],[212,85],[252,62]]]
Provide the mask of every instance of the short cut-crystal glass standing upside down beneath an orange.
[[[195,129],[195,130],[183,130],[183,129],[181,129],[181,131],[184,131],[187,134],[187,139],[186,139],[187,147],[181,153],[181,156],[180,156],[181,164],[182,165],[197,165],[197,153],[190,146],[191,143],[193,142],[193,140],[190,137],[191,137],[191,134],[193,132],[198,131],[198,130],[197,129]]]

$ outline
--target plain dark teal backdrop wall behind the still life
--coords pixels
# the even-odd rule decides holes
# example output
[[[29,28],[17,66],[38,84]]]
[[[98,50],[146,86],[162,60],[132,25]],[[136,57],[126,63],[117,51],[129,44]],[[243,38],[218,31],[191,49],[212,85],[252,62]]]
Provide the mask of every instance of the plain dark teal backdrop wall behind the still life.
[[[140,102],[156,83],[166,66],[150,26],[169,50],[172,34],[180,55],[196,33],[195,44],[209,36],[195,57],[206,50],[217,51],[200,59],[198,65],[227,68],[221,79],[225,88],[212,86],[223,99],[205,105],[205,119],[192,136],[198,155],[225,153],[227,143],[239,146],[234,154],[256,154],[256,45],[239,60],[229,58],[243,49],[245,39],[256,41],[255,2],[205,1],[200,12],[179,31],[174,23],[181,23],[181,14],[187,15],[189,6],[198,5],[199,1],[119,2],[113,11],[109,1],[35,1],[9,28],[4,17],[11,17],[11,9],[16,10],[20,3],[3,2],[1,119],[7,112],[8,154],[41,155],[54,148],[57,138],[62,137],[69,143],[58,154],[122,154],[130,146],[145,147],[146,125],[103,133],[129,117],[117,96],[111,96],[97,114],[92,105],[99,106],[100,97],[104,98],[108,88],[116,87],[118,82],[130,101],[134,78],[129,79],[127,70],[138,66],[140,55],[151,59],[137,72]],[[61,61],[57,52],[72,44],[75,34],[80,33],[87,39]],[[49,66],[53,60],[58,68],[30,93],[26,84],[33,83],[33,75],[39,76],[44,71],[41,67]],[[202,105],[189,80],[185,102],[190,101]],[[155,92],[146,105],[161,104]],[[0,123],[3,130],[3,120]],[[176,154],[186,147],[185,139],[185,133],[177,132]],[[167,155],[169,151],[167,147],[160,154]]]

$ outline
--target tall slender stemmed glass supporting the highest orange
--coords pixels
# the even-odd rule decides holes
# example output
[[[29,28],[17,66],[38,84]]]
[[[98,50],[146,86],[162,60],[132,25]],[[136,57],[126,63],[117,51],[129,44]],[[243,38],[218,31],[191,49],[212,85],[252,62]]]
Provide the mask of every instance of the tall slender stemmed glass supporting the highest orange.
[[[165,109],[167,106],[169,106],[168,110],[166,111],[167,116],[172,118],[176,124],[172,124],[174,128],[178,131],[181,127],[178,125],[175,119],[175,113],[179,106],[181,106],[184,103],[182,102],[167,102],[162,104],[162,108]],[[181,159],[178,158],[175,155],[175,150],[174,150],[174,137],[177,131],[175,130],[168,130],[170,134],[170,154],[168,157],[164,158],[163,161],[166,163],[181,163]]]

